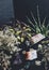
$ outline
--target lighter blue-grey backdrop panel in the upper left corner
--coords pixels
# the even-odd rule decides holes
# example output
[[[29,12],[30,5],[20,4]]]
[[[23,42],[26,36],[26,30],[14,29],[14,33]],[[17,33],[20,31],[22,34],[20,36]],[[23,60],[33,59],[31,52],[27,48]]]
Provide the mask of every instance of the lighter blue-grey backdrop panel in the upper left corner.
[[[14,17],[13,0],[0,0],[0,23]]]

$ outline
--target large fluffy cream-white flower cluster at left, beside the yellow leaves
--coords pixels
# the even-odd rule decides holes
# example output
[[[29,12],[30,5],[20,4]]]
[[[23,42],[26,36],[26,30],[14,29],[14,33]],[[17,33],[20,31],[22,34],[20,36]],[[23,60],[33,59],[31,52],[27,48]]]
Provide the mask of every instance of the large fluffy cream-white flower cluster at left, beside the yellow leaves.
[[[20,48],[15,46],[15,44],[20,44],[18,39],[15,37],[14,32],[12,32],[7,26],[2,31],[0,31],[0,46],[5,44],[6,48],[9,47],[9,50],[12,53],[20,51]]]

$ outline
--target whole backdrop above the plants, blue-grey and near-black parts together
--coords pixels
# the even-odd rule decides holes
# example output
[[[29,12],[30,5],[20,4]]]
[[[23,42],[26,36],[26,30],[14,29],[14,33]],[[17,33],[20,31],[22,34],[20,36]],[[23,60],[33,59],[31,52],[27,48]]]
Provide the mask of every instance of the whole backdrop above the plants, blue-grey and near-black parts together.
[[[26,16],[30,16],[30,11],[36,16],[37,4],[40,19],[45,16],[49,19],[49,0],[0,0],[0,22],[6,22],[14,16],[26,20]]]

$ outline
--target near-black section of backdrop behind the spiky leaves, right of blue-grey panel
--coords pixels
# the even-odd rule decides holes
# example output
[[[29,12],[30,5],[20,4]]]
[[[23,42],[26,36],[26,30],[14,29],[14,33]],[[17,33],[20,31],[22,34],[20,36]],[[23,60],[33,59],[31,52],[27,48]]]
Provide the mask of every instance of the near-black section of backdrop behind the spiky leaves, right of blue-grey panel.
[[[42,20],[45,16],[49,19],[49,0],[14,0],[15,18],[24,20],[30,11],[36,16],[36,5],[39,6]]]

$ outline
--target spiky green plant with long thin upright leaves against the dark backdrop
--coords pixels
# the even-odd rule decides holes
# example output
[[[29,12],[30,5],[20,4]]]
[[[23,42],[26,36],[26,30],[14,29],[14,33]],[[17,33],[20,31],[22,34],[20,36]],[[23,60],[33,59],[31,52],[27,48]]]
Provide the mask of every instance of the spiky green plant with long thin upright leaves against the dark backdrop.
[[[49,24],[46,25],[46,17],[44,18],[43,23],[40,22],[38,5],[37,5],[37,20],[35,19],[32,12],[31,12],[31,16],[32,16],[32,19],[34,20],[34,23],[28,16],[27,16],[27,18],[28,18],[28,22],[30,23],[30,25],[32,25],[33,30],[36,33],[42,33],[42,34],[48,37],[49,36]]]

